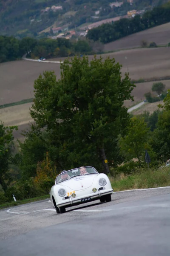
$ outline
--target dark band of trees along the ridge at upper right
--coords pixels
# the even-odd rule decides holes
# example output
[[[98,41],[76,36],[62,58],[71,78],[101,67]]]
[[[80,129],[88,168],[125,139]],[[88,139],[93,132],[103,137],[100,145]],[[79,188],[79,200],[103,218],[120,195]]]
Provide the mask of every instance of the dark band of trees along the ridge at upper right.
[[[102,24],[88,30],[87,38],[101,41],[103,44],[115,41],[133,33],[149,29],[170,21],[170,6],[159,6],[145,12],[142,17],[135,15],[131,19],[124,18],[113,24]]]

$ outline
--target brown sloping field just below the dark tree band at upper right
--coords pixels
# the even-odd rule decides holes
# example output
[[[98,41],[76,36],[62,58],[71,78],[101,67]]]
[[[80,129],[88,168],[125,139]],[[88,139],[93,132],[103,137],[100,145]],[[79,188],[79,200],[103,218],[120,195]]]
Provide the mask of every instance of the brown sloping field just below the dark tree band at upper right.
[[[165,23],[151,29],[147,29],[125,38],[104,45],[104,51],[115,51],[117,49],[130,49],[141,47],[141,41],[155,42],[157,45],[166,45],[170,42],[170,23]]]

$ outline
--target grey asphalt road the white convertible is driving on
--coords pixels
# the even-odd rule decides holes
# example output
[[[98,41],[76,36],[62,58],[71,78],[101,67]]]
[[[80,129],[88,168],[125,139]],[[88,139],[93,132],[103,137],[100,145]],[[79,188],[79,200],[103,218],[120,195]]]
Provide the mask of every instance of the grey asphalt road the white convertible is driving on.
[[[56,214],[48,200],[0,211],[0,256],[169,256],[170,188],[118,192]]]

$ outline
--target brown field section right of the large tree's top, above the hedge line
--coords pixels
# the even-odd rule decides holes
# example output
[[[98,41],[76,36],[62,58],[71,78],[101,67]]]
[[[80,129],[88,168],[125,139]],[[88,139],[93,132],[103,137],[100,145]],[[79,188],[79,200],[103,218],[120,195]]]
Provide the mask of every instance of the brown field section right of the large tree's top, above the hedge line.
[[[169,76],[170,48],[144,48],[128,49],[120,52],[102,54],[103,59],[110,56],[115,58],[116,62],[122,64],[122,75],[125,72],[130,73],[133,80],[159,78]],[[99,58],[99,55],[97,55]],[[89,56],[91,60],[93,56]],[[65,58],[62,58],[64,60]],[[59,60],[58,58],[52,59]]]

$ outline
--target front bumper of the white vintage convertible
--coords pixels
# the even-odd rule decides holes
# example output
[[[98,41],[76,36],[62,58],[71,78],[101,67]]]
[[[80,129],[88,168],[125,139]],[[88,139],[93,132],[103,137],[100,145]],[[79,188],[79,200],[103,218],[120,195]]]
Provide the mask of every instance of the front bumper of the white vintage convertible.
[[[93,192],[91,194],[84,195],[84,196],[81,196],[81,197],[77,197],[77,198],[72,198],[71,196],[69,196],[68,199],[63,200],[62,202],[60,201],[56,205],[57,205],[57,207],[62,207],[62,206],[66,207],[66,206],[74,206],[74,204],[88,203],[90,201],[100,199],[101,196],[103,196],[103,195],[111,194],[112,192],[113,192],[113,189],[105,189],[105,190],[99,190],[98,189],[98,191],[96,191],[96,192]],[[84,199],[84,198],[91,198],[91,200],[82,202],[81,200]]]

